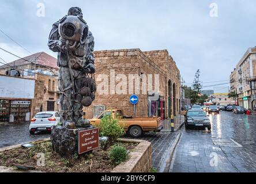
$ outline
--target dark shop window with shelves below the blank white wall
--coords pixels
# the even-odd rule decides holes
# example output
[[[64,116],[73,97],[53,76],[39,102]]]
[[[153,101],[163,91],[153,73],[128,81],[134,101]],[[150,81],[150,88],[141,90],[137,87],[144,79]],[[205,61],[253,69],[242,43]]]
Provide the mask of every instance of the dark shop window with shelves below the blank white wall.
[[[30,112],[31,100],[0,99],[1,122],[28,122]]]

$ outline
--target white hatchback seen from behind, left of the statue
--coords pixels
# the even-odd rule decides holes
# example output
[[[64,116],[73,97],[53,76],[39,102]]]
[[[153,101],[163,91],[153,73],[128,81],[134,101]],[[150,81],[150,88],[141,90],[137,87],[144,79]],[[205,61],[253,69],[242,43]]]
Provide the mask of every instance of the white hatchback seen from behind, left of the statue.
[[[59,112],[40,112],[37,113],[30,122],[29,133],[35,132],[51,132],[51,127],[57,125],[61,121]]]

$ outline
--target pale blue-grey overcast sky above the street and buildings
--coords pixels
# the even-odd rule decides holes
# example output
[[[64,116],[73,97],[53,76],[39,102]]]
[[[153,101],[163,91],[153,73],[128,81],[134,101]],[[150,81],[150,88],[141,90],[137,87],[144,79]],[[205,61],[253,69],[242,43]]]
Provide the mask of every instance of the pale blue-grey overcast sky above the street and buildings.
[[[44,17],[37,16],[38,3],[45,6]],[[218,5],[218,17],[210,16],[212,3]],[[188,85],[197,69],[204,86],[227,83],[247,48],[256,46],[255,0],[0,0],[0,6],[0,29],[32,53],[56,57],[47,47],[52,23],[69,7],[79,6],[95,37],[95,50],[167,49]],[[1,32],[0,47],[30,55]],[[0,57],[17,59],[3,51]],[[208,83],[213,81],[221,82]],[[225,92],[228,85],[205,89]]]

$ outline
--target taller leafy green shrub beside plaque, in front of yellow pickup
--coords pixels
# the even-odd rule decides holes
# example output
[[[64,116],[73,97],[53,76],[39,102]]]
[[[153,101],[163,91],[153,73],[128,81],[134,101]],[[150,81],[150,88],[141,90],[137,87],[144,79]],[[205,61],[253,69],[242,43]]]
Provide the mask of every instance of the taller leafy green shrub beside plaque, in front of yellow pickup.
[[[125,134],[125,129],[119,125],[118,120],[112,118],[112,114],[101,118],[99,128],[100,136],[108,137],[107,140],[101,141],[103,150],[107,150],[119,137]]]

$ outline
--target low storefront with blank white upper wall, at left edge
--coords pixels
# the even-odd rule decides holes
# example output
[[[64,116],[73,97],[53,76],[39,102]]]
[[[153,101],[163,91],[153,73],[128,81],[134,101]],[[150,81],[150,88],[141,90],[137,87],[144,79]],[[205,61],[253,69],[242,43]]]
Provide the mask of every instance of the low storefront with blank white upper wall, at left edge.
[[[0,121],[28,122],[35,80],[0,75]]]

